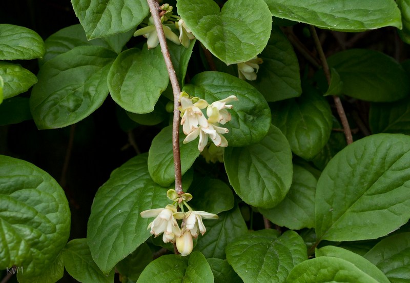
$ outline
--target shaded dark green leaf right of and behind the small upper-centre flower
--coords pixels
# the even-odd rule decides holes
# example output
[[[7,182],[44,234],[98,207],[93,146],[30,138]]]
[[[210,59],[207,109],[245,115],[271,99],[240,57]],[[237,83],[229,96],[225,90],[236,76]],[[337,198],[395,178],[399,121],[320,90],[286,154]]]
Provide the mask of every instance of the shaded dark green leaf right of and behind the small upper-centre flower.
[[[299,63],[292,45],[279,27],[272,26],[268,45],[258,55],[263,59],[256,80],[249,81],[267,101],[300,96]]]

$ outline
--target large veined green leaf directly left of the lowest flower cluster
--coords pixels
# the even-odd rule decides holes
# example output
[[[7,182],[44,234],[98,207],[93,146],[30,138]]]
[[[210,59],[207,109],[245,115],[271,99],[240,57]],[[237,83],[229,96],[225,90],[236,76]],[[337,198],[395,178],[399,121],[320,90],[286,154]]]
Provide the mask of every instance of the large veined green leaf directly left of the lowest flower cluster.
[[[152,219],[139,213],[165,207],[169,204],[166,193],[148,173],[147,154],[115,169],[98,189],[88,219],[87,243],[105,274],[150,237],[147,227]]]

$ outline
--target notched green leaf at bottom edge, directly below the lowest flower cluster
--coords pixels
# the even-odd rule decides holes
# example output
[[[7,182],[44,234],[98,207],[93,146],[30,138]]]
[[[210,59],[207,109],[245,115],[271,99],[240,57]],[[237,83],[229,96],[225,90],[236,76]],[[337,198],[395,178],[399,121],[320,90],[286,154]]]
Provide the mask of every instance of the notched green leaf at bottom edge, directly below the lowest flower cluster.
[[[187,257],[181,255],[163,255],[152,261],[139,276],[139,283],[145,282],[213,282],[211,268],[205,257],[193,252]]]

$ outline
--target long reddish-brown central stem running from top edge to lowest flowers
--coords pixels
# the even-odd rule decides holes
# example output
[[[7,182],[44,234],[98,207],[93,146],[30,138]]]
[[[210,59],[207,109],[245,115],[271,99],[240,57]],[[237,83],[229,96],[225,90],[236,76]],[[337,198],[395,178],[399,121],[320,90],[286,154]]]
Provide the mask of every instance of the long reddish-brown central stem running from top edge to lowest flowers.
[[[181,157],[179,153],[179,95],[181,88],[179,87],[178,78],[176,77],[174,66],[172,65],[170,52],[168,50],[167,39],[163,33],[161,19],[159,18],[159,5],[154,0],[147,0],[150,7],[152,18],[154,19],[154,25],[157,30],[159,45],[161,46],[162,56],[167,65],[168,74],[172,85],[172,91],[174,93],[174,119],[172,122],[172,150],[174,153],[174,166],[175,166],[175,190],[178,194],[182,194],[182,171],[181,171]]]

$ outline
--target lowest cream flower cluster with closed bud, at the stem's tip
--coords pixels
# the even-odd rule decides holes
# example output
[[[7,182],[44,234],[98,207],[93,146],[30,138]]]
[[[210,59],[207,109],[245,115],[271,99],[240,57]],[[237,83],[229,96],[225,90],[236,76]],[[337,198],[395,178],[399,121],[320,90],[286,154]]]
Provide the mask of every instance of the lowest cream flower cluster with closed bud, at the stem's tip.
[[[179,253],[183,256],[189,255],[193,249],[193,238],[202,235],[207,231],[203,225],[202,218],[218,219],[218,215],[206,211],[195,211],[187,201],[192,199],[189,193],[178,194],[171,189],[167,192],[167,197],[173,201],[172,205],[165,208],[149,209],[140,213],[143,218],[156,217],[149,225],[151,234],[157,237],[162,234],[163,242],[172,242],[176,244]],[[188,208],[185,211],[184,206]],[[177,210],[180,208],[180,211]],[[181,220],[178,225],[177,220]]]

